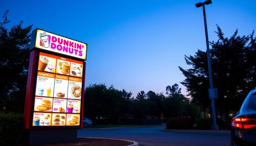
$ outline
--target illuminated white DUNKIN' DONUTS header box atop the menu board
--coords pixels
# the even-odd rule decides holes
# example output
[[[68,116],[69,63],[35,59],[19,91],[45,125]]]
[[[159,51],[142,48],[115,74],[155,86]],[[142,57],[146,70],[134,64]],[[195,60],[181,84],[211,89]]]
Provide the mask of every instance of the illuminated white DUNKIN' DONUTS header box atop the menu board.
[[[32,32],[33,44],[30,49],[38,48],[86,60],[87,44],[65,38],[44,30]]]

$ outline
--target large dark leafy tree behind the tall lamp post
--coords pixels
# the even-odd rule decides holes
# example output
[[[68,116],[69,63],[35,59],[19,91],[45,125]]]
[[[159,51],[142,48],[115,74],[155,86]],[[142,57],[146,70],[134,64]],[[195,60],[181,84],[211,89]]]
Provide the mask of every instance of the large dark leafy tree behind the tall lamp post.
[[[246,94],[256,84],[255,74],[255,40],[254,31],[250,36],[238,36],[235,31],[229,39],[224,38],[220,27],[217,25],[217,42],[210,42],[212,48],[211,66],[214,87],[218,88],[219,99],[216,99],[216,109],[225,114],[226,123],[230,110],[238,110]],[[187,65],[192,68],[180,71],[186,77],[181,83],[186,86],[192,102],[197,105],[210,106],[208,97],[209,75],[207,54],[198,50],[194,56],[186,56]]]

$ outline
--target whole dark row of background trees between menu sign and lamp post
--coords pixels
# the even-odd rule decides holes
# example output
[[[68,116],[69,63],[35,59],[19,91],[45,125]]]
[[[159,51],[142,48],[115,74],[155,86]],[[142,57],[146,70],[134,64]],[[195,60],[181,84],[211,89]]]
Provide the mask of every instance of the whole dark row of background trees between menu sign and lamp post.
[[[105,84],[92,84],[85,89],[84,116],[91,119],[118,119],[121,114],[132,114],[134,118],[160,118],[163,113],[166,119],[182,114],[196,118],[197,106],[190,103],[178,87],[178,84],[167,86],[168,96],[154,91],[140,91],[136,97],[131,98],[131,92],[117,90],[113,85],[107,87]]]

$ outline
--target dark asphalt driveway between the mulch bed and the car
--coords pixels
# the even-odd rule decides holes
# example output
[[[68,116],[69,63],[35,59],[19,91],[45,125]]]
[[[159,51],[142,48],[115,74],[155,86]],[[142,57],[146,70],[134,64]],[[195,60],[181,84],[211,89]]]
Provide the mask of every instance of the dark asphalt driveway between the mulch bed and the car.
[[[77,136],[132,140],[140,146],[227,146],[230,141],[230,134],[161,132],[163,128],[85,128],[78,130]]]

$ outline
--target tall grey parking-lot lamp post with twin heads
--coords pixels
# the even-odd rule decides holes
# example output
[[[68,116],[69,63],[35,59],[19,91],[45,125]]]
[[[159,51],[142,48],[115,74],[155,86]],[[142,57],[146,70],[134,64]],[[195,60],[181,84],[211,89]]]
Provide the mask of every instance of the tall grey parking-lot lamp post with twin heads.
[[[217,89],[214,90],[213,88],[213,82],[212,82],[212,67],[211,67],[211,60],[210,60],[210,50],[209,50],[209,40],[208,40],[208,31],[207,31],[207,24],[206,24],[206,15],[205,15],[205,4],[209,5],[211,4],[211,0],[206,0],[204,2],[196,3],[196,7],[203,6],[203,14],[204,14],[204,29],[205,29],[205,38],[206,38],[206,48],[207,48],[207,59],[208,59],[208,69],[209,69],[209,80],[210,80],[210,89],[209,89],[209,98],[212,99],[212,130],[219,130],[218,125],[216,124],[216,115],[215,115],[215,104],[214,104],[214,98],[217,98],[215,94],[217,94]],[[211,95],[213,96],[211,97]]]

